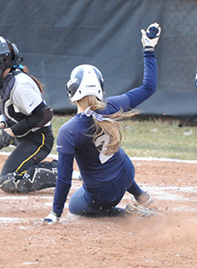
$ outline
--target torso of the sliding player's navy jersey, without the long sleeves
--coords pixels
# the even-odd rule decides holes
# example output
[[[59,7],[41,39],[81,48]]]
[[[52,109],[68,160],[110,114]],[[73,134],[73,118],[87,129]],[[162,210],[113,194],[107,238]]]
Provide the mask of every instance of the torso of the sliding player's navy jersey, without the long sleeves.
[[[93,142],[92,124],[91,116],[76,114],[59,130],[57,139],[57,146],[63,147],[61,152],[76,158],[81,177],[89,186],[115,179],[125,160],[122,149],[114,155],[102,153],[107,143],[107,135],[102,135]]]

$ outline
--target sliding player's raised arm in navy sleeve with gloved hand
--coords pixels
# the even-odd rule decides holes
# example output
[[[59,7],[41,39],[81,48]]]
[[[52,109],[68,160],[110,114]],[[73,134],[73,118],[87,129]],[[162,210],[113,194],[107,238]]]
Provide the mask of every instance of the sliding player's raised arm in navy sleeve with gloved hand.
[[[140,105],[156,91],[158,66],[154,48],[158,44],[160,31],[161,29],[158,23],[150,24],[150,27],[146,31],[141,29],[144,63],[141,86],[133,88],[123,95],[108,97],[106,99],[108,104],[106,112],[108,114],[116,113],[120,109],[127,112]]]

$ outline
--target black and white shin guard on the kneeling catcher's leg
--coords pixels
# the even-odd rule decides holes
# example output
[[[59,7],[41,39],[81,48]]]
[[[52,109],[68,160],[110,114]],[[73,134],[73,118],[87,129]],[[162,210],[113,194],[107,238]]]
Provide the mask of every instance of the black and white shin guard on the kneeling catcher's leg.
[[[56,187],[57,161],[43,162],[30,166],[21,179],[19,176],[7,174],[7,180],[0,185],[4,192],[28,193],[43,188]],[[5,177],[4,176],[4,177]]]

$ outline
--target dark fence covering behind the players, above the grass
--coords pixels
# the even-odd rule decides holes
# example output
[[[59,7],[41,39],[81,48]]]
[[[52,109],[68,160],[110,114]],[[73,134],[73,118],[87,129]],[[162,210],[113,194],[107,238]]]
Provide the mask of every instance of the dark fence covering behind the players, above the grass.
[[[139,108],[196,121],[196,14],[192,0],[1,0],[0,35],[18,45],[24,64],[46,85],[48,105],[66,113],[75,108],[65,82],[78,64],[102,71],[106,96],[141,84],[140,30],[157,21],[158,91]]]

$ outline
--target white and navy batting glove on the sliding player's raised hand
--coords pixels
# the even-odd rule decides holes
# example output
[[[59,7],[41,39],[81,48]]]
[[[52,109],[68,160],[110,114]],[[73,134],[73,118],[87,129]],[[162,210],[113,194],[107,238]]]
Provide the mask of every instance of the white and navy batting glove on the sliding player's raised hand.
[[[146,31],[141,29],[141,43],[144,51],[154,51],[154,47],[158,45],[160,33],[161,28],[157,22],[150,24]]]

